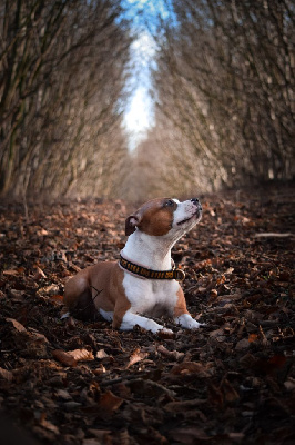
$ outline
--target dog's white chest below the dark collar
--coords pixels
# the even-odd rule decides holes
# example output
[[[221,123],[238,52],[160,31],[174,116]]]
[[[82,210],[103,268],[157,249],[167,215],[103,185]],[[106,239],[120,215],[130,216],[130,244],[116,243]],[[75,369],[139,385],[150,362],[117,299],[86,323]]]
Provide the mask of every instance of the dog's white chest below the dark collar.
[[[125,273],[123,287],[132,312],[142,315],[171,315],[177,300],[179,283],[175,280],[144,279]]]

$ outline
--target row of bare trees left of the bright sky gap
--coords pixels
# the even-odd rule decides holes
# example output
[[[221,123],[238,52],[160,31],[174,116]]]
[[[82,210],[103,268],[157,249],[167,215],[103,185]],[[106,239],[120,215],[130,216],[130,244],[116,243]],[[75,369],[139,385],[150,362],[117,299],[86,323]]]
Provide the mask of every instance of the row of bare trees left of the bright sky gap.
[[[120,0],[6,0],[0,34],[0,194],[111,195],[132,41]]]

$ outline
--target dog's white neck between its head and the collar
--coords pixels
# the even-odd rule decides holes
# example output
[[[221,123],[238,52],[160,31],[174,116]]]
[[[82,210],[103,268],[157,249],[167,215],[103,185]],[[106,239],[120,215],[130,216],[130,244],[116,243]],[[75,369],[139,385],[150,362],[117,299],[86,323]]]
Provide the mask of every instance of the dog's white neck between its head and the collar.
[[[169,270],[171,269],[171,248],[175,243],[176,239],[151,236],[136,229],[128,238],[122,256],[149,269]]]

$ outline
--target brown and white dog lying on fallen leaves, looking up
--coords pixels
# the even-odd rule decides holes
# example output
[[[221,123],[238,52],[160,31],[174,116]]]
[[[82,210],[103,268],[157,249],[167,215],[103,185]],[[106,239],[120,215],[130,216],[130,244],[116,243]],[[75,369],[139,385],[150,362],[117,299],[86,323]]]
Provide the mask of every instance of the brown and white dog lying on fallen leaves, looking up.
[[[64,303],[70,313],[82,319],[95,319],[100,313],[122,330],[139,325],[153,333],[172,333],[145,317],[161,315],[169,315],[183,328],[199,328],[175,279],[181,274],[172,268],[171,248],[201,216],[196,198],[183,202],[159,198],[144,204],[126,219],[129,238],[121,260],[90,266],[67,283]]]

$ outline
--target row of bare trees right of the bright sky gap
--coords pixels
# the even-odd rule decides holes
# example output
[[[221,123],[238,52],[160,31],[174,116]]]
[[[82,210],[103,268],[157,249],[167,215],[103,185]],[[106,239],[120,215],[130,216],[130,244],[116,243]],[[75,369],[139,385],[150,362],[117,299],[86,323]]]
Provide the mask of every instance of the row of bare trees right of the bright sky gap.
[[[134,162],[175,192],[294,178],[294,2],[171,4],[155,34],[156,126]],[[148,145],[161,147],[149,160]]]

